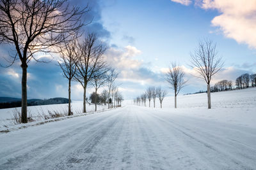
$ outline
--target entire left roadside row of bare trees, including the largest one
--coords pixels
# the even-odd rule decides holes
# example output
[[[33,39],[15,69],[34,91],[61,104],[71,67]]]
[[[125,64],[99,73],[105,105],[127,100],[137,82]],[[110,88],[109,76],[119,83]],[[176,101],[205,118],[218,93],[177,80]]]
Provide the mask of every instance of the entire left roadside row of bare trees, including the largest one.
[[[68,115],[71,81],[78,81],[84,89],[83,112],[86,112],[86,88],[92,85],[95,92],[107,84],[108,98],[114,94],[113,84],[117,74],[104,61],[106,46],[89,32],[84,41],[79,41],[84,25],[92,21],[83,20],[90,8],[70,6],[68,1],[59,0],[1,0],[0,1],[0,43],[12,46],[10,65],[19,59],[22,68],[21,122],[27,123],[27,69],[31,60],[40,60],[42,53],[57,53],[63,75],[68,79]],[[37,54],[37,55],[36,55]],[[1,64],[3,66],[3,64]],[[6,67],[8,67],[6,66]],[[95,105],[95,109],[97,106]]]

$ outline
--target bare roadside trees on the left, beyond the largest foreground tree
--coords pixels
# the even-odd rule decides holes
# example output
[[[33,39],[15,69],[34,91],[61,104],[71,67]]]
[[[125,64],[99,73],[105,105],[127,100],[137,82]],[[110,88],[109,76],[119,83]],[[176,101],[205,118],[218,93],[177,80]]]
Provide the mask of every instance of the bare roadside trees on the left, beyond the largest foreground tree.
[[[120,102],[120,93],[115,84],[118,76],[115,69],[108,66],[104,60],[104,52],[106,46],[97,38],[94,32],[88,32],[83,42],[74,39],[65,44],[65,49],[61,52],[61,61],[58,62],[65,78],[68,79],[68,115],[72,115],[70,108],[70,86],[71,81],[77,81],[83,86],[83,112],[86,113],[86,89],[91,85],[95,89],[93,103],[95,103],[95,111],[97,111],[97,92],[102,87],[108,87],[104,90],[104,98],[111,98],[112,101]],[[105,103],[106,103],[105,101]],[[108,106],[109,108],[109,106]]]

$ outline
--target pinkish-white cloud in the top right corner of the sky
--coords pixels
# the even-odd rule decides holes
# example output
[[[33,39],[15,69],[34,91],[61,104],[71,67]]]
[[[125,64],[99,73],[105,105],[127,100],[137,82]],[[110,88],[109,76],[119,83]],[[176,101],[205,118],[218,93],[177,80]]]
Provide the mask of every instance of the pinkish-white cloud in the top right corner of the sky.
[[[191,1],[172,0],[184,5]],[[218,10],[220,15],[211,21],[227,38],[256,48],[256,0],[195,0],[204,10]],[[212,32],[212,31],[211,31]]]

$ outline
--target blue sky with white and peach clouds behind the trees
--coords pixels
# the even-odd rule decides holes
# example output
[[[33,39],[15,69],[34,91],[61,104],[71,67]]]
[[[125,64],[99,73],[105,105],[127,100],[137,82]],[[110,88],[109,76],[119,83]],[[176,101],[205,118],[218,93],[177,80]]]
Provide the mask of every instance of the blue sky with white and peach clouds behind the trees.
[[[188,80],[180,95],[206,90],[205,81],[195,78],[189,67],[190,53],[204,38],[216,43],[225,62],[211,85],[256,72],[256,0],[70,0],[80,7],[87,3],[91,11],[84,18],[92,23],[83,29],[97,32],[108,44],[104,55],[119,73],[116,83],[125,99],[133,99],[152,85],[166,88],[173,96],[164,80],[171,62],[184,69]],[[0,45],[0,62],[4,63],[10,48]],[[0,96],[20,97],[20,81],[19,60],[11,67],[0,67]],[[88,87],[88,94],[92,92]],[[47,64],[29,62],[29,99],[67,96],[68,81],[56,59]],[[83,99],[83,88],[75,81],[72,99]]]

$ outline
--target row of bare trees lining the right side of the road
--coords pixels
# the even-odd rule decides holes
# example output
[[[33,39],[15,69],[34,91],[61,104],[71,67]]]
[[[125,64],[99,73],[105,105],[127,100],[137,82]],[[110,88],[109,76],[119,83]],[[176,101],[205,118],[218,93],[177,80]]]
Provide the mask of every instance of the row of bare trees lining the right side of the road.
[[[207,84],[207,102],[208,108],[211,109],[211,87],[210,83],[212,80],[212,76],[218,73],[223,67],[224,62],[222,58],[218,55],[216,50],[216,43],[213,43],[210,39],[203,39],[200,40],[198,43],[195,52],[191,52],[191,64],[190,67],[193,68],[197,78],[202,78],[205,80]],[[177,108],[177,95],[179,94],[180,90],[186,85],[188,80],[184,80],[184,70],[182,67],[178,66],[175,62],[173,62],[168,71],[164,75],[164,79],[168,83],[170,89],[174,91],[174,107]],[[222,83],[224,83],[222,85]],[[223,80],[221,81],[221,89],[232,88],[232,81]],[[218,85],[219,85],[218,84]],[[148,88],[145,94],[142,94],[140,97],[134,99],[134,103],[146,106],[146,98],[148,98],[149,106],[150,100],[152,96],[152,92],[150,90],[151,87]],[[219,87],[218,87],[219,88]],[[153,90],[154,91],[154,90]],[[166,96],[166,92],[164,93],[164,97]],[[153,97],[154,99],[154,97]],[[155,99],[154,99],[155,101]],[[163,99],[162,99],[163,101]],[[160,101],[160,103],[162,103]],[[162,105],[162,104],[161,104]]]

